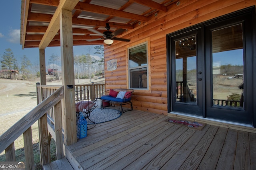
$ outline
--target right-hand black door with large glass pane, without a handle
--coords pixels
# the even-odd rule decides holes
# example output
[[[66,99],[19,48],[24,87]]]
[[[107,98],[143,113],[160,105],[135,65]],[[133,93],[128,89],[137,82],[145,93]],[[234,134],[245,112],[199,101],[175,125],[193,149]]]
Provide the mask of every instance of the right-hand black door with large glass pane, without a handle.
[[[252,34],[247,17],[236,19],[205,27],[206,117],[252,124]]]

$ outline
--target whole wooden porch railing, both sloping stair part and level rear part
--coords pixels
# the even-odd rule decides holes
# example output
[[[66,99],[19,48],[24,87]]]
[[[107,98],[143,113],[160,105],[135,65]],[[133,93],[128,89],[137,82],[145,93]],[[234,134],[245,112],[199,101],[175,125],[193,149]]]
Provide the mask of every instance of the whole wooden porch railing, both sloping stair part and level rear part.
[[[75,85],[75,90],[82,90],[84,88],[89,89],[88,97],[91,100],[100,98],[101,93],[105,91],[104,84]],[[23,134],[26,169],[30,170],[35,168],[31,126],[36,121],[38,121],[40,134],[41,163],[43,165],[50,163],[48,131],[49,135],[53,136],[56,142],[57,159],[64,156],[61,111],[61,100],[64,98],[63,86],[40,86],[40,83],[37,83],[36,91],[38,105],[0,136],[0,153],[5,150],[6,161],[16,161],[14,141]],[[49,127],[47,118],[54,124],[55,131]],[[48,126],[46,126],[47,124]]]

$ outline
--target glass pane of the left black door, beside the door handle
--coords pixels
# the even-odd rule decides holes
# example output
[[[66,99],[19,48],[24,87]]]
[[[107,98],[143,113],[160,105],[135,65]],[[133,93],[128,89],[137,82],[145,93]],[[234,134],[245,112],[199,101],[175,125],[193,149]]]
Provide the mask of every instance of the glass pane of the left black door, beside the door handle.
[[[176,102],[196,104],[196,36],[175,41]]]

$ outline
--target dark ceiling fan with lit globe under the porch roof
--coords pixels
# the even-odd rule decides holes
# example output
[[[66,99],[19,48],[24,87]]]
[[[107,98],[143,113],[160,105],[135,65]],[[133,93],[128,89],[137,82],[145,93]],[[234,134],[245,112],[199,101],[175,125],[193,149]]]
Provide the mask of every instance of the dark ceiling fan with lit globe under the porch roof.
[[[126,42],[130,41],[130,39],[123,39],[123,38],[115,37],[116,35],[124,32],[124,29],[121,28],[121,29],[118,29],[114,32],[111,32],[111,31],[109,31],[109,29],[110,29],[109,23],[106,23],[105,28],[106,28],[107,31],[104,31],[103,34],[100,31],[96,30],[96,29],[88,29],[88,31],[91,31],[91,32],[96,33],[98,35],[102,35],[104,38],[88,39],[86,41],[91,42],[91,41],[104,40],[104,43],[106,43],[108,45],[112,44],[114,42],[113,40],[126,41]]]

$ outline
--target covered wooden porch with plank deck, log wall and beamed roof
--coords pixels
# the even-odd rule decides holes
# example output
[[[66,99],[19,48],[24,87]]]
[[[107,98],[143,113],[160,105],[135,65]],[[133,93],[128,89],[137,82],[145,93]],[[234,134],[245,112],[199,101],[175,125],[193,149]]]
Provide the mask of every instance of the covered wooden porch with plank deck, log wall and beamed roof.
[[[63,79],[62,87],[56,88],[53,95],[46,98],[42,90],[38,92],[41,103],[2,136],[0,149],[8,153],[7,160],[15,160],[14,140],[23,134],[27,167],[34,168],[30,127],[38,121],[44,169],[70,169],[71,166],[74,169],[256,169],[254,128],[240,129],[224,122],[207,121],[202,131],[198,131],[166,121],[170,107],[166,35],[255,6],[255,2],[110,2],[112,5],[105,7],[99,0],[22,0],[21,44],[23,48],[39,48],[41,88],[46,85],[46,47],[61,47]],[[113,32],[125,30],[114,38],[131,41],[104,45],[106,89],[129,88],[127,49],[145,42],[148,87],[138,88],[134,93],[134,111],[98,124],[88,131],[88,137],[77,140],[73,45],[103,44],[102,40],[108,38],[103,32],[106,23]],[[91,29],[97,33],[93,34]],[[106,69],[106,62],[111,59],[118,60],[114,71]],[[254,66],[251,70],[255,70]],[[46,112],[50,109],[54,111],[55,129],[58,129],[55,132],[47,126]],[[58,160],[52,163],[48,133],[56,135]]]

